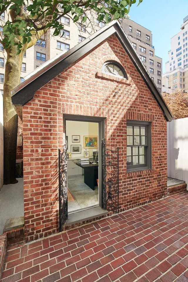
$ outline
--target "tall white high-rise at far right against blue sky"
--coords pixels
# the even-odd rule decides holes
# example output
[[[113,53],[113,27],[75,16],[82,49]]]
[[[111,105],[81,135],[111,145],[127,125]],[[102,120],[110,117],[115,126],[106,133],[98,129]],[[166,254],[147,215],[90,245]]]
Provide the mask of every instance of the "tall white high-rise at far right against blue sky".
[[[181,89],[188,92],[188,16],[183,19],[181,31],[171,38],[169,61],[166,72],[162,75],[162,85],[173,90]]]

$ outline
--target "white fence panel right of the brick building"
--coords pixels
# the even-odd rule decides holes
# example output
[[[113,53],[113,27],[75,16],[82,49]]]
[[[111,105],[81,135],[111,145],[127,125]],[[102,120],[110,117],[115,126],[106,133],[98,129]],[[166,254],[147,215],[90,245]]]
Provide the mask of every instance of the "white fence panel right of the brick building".
[[[188,185],[188,117],[167,122],[167,174]]]

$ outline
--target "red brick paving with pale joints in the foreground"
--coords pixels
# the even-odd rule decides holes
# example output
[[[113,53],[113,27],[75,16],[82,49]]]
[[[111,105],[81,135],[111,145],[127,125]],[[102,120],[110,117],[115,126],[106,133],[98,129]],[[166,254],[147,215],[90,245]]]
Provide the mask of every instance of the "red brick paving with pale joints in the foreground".
[[[9,247],[1,282],[188,281],[188,193]]]

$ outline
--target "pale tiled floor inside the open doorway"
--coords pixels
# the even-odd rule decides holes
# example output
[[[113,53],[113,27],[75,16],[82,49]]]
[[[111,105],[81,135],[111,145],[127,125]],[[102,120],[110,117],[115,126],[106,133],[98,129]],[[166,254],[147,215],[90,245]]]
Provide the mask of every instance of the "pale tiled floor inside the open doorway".
[[[68,189],[74,199],[68,199],[68,212],[98,205],[98,186],[92,190],[84,183],[84,176],[68,177]]]

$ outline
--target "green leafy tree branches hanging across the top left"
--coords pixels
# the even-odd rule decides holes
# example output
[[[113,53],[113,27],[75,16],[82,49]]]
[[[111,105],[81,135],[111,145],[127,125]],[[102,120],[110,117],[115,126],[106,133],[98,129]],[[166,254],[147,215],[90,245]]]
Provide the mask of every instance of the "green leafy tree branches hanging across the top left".
[[[138,4],[142,1],[138,0]],[[98,21],[109,23],[113,19],[123,18],[135,3],[136,0],[4,0],[0,3],[0,15],[9,10],[11,19],[4,25],[2,44],[5,49],[17,45],[19,53],[37,31],[53,28],[53,35],[58,35],[63,29],[61,16],[68,14],[74,22],[85,23],[87,11],[93,10]]]

